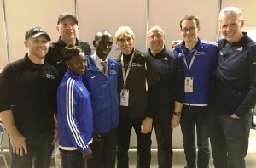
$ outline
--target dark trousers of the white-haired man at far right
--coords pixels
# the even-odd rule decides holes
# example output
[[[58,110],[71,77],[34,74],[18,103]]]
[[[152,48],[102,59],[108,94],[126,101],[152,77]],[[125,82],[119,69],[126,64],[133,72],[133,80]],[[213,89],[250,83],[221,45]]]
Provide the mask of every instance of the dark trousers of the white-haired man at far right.
[[[252,112],[241,119],[211,110],[210,139],[216,168],[245,168]]]

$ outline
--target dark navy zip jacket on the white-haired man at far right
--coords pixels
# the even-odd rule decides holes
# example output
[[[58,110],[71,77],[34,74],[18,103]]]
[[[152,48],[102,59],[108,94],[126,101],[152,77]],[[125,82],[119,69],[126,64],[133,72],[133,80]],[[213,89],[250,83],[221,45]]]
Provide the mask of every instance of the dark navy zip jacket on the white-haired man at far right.
[[[242,116],[256,102],[256,42],[246,32],[239,42],[218,41],[220,48],[210,107]]]

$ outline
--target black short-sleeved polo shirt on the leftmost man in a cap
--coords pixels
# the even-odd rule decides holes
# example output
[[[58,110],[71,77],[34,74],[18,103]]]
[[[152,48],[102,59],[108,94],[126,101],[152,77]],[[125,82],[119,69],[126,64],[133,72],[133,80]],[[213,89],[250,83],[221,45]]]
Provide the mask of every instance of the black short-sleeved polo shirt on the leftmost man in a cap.
[[[6,65],[0,79],[0,112],[12,110],[21,134],[53,132],[58,71],[25,58]]]

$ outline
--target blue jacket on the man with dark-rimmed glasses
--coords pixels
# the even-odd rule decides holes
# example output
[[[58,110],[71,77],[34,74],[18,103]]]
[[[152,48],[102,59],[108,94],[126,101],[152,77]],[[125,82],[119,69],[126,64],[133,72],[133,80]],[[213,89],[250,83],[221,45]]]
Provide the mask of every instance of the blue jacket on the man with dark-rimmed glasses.
[[[173,50],[173,53],[183,62],[184,76],[192,77],[194,82],[193,92],[185,92],[183,104],[207,106],[212,87],[213,70],[216,67],[218,58],[218,44],[216,42],[201,41],[198,38],[198,44],[191,51],[184,46],[185,43],[183,41],[178,48]],[[189,70],[184,64],[183,53],[189,66],[195,52],[195,60],[189,74]]]

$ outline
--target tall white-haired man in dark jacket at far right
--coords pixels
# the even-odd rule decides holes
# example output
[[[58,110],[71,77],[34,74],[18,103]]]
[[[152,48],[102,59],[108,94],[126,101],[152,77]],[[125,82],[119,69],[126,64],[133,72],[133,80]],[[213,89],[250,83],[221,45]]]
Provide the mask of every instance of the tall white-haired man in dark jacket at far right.
[[[224,39],[220,49],[210,107],[210,139],[214,166],[245,168],[252,109],[256,101],[256,42],[242,32],[241,9],[219,14]]]

